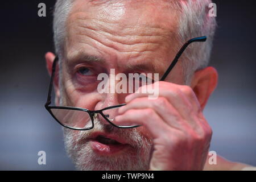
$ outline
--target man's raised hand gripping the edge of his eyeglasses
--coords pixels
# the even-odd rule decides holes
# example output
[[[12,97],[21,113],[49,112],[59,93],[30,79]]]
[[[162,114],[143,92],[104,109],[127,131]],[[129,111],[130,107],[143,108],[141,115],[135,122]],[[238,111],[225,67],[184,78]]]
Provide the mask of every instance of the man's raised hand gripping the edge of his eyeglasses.
[[[160,81],[156,100],[148,100],[148,94],[139,92],[125,101],[127,105],[120,107],[115,121],[146,127],[154,145],[150,170],[204,168],[212,130],[189,86]]]

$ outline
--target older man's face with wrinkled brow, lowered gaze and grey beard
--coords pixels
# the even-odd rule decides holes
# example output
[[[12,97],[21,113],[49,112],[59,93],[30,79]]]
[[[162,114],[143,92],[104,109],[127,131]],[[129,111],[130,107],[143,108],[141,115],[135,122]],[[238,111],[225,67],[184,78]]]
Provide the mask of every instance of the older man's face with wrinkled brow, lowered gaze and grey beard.
[[[110,69],[115,74],[161,77],[179,48],[176,17],[176,11],[162,1],[75,1],[67,20],[60,105],[98,110],[124,103],[127,94],[98,93],[97,76],[110,74]],[[180,63],[166,80],[184,84]],[[125,144],[97,145],[93,137],[98,134]],[[143,126],[118,129],[96,119],[94,129],[65,129],[64,137],[79,169],[148,168],[152,141]]]

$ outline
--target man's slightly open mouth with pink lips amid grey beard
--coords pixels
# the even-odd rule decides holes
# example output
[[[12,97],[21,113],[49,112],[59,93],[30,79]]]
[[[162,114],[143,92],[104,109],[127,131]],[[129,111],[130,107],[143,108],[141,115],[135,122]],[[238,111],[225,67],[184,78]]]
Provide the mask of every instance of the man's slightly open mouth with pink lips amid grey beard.
[[[117,154],[125,150],[128,146],[129,144],[121,143],[120,141],[113,139],[113,137],[104,135],[97,135],[91,140],[93,151],[99,155]]]

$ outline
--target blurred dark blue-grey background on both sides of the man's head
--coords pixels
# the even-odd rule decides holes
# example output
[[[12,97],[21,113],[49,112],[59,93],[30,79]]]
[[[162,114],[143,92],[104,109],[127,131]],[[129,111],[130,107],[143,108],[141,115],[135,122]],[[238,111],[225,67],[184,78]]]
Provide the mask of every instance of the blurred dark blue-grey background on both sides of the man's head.
[[[47,16],[38,16],[38,4]],[[214,1],[218,28],[210,65],[219,73],[204,110],[213,129],[210,150],[256,166],[255,1]],[[0,169],[73,170],[61,126],[44,109],[53,50],[55,1],[1,2]],[[46,151],[46,165],[38,151]]]

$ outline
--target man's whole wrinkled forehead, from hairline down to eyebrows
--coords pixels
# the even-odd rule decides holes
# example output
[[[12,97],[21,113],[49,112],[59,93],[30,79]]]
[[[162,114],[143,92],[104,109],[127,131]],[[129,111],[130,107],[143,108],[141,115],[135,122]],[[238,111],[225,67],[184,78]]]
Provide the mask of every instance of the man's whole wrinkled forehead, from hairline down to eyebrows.
[[[67,20],[67,57],[165,59],[175,48],[176,11],[166,1],[77,0]],[[164,57],[163,52],[166,52]],[[151,58],[150,58],[151,57]]]

